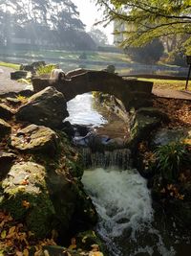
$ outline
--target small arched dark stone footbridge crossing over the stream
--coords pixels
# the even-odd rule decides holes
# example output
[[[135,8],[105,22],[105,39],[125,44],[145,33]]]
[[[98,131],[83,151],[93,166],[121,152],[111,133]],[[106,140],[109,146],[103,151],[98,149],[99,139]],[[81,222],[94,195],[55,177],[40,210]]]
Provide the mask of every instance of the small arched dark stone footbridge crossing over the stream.
[[[116,74],[105,71],[85,71],[71,77],[71,80],[32,80],[33,89],[38,92],[47,86],[53,86],[62,92],[66,101],[72,100],[76,95],[90,91],[100,91],[117,97],[128,110],[135,104],[144,105],[151,97],[153,82],[124,80]]]

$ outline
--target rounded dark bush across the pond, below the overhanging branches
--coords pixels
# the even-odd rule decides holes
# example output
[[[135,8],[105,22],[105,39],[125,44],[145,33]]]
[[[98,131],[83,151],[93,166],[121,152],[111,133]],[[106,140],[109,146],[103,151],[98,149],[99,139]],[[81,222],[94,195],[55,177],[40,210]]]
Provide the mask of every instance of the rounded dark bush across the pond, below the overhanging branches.
[[[154,39],[152,42],[142,47],[130,47],[125,49],[125,52],[132,60],[145,64],[159,61],[163,51],[164,47],[159,39]]]

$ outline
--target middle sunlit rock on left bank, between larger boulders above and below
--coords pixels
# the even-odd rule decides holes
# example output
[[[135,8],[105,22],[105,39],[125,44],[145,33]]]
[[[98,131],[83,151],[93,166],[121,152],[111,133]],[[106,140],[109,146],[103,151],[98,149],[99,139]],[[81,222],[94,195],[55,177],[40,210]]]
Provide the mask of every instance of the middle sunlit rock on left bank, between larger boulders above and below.
[[[55,153],[58,137],[51,128],[31,125],[11,135],[11,146],[20,151]]]

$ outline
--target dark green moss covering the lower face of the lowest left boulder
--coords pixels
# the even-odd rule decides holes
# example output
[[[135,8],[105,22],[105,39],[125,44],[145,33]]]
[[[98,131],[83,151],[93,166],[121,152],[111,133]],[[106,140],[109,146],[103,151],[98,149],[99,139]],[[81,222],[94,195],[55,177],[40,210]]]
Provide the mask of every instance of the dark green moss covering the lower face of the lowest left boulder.
[[[51,223],[55,213],[53,203],[46,193],[29,194],[11,190],[11,194],[5,194],[0,206],[14,220],[26,221],[29,230],[36,237],[43,238],[52,230]]]

